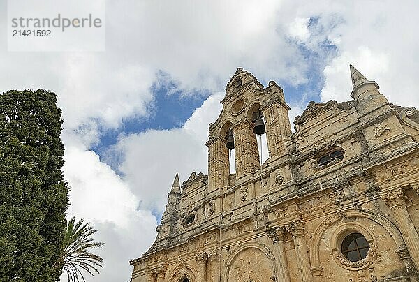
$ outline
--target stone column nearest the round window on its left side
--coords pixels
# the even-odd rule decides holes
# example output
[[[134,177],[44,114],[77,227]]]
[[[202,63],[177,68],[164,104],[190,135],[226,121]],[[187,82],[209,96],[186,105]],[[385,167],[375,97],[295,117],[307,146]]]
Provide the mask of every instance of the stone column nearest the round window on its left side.
[[[300,281],[312,282],[313,276],[311,275],[307,243],[305,242],[304,237],[304,223],[301,220],[294,221],[293,223],[286,225],[286,230],[293,235]]]

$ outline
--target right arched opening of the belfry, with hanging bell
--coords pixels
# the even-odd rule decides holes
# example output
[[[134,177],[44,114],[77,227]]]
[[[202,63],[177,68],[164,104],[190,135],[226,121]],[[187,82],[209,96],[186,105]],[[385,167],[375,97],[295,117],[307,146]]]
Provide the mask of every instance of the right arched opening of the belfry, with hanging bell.
[[[265,119],[263,112],[260,110],[260,104],[255,103],[251,105],[247,112],[247,119],[253,124],[253,134],[256,135],[256,142],[258,145],[259,163],[262,165],[269,158],[269,151],[267,149],[267,136]]]

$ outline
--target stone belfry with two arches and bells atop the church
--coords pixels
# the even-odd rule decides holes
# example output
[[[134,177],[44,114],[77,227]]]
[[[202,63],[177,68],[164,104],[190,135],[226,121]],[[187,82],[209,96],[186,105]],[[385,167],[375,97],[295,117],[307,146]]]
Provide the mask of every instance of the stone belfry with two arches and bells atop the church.
[[[226,86],[223,110],[210,124],[208,147],[209,191],[229,185],[229,150],[235,149],[236,184],[260,171],[256,135],[266,133],[267,163],[285,153],[291,126],[284,93],[275,82],[268,87],[251,73],[238,68]]]

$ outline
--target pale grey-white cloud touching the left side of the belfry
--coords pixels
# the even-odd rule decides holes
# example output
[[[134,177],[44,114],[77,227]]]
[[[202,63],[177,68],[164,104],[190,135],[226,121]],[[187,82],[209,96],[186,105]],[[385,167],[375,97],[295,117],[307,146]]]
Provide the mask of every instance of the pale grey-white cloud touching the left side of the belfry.
[[[217,93],[196,109],[182,128],[150,130],[123,136],[110,154],[122,155],[119,170],[141,199],[141,207],[162,211],[175,174],[186,180],[191,172],[207,172],[208,124],[221,112]]]

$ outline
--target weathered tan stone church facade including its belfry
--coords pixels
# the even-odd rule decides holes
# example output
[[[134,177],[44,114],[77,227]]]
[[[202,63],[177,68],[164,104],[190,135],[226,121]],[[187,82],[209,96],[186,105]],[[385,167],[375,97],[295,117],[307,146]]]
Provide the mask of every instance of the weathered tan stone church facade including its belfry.
[[[208,175],[176,175],[131,281],[418,281],[419,112],[350,70],[352,100],[310,102],[292,133],[281,87],[237,69],[210,124]]]

